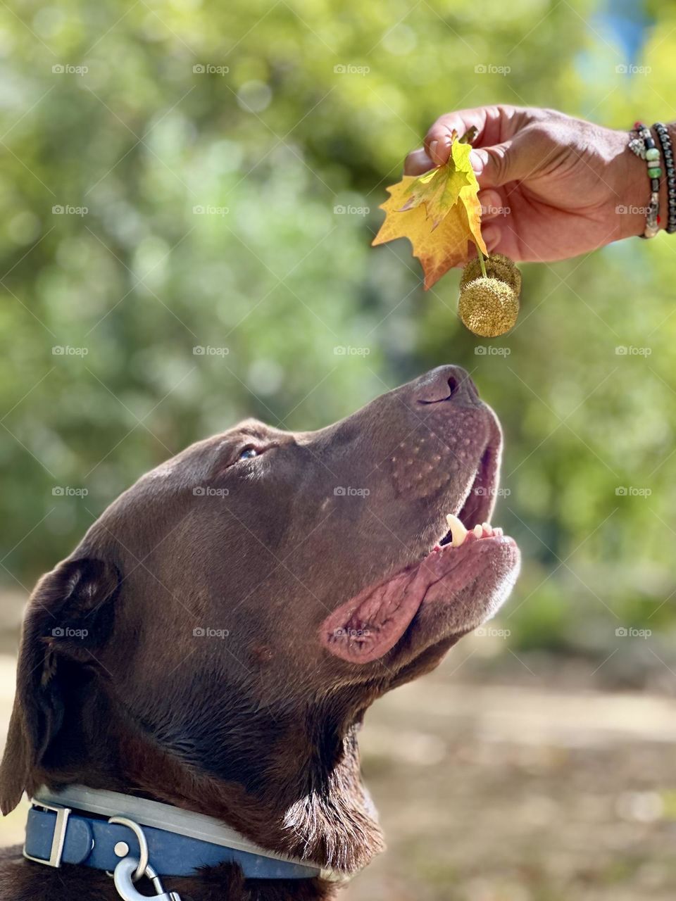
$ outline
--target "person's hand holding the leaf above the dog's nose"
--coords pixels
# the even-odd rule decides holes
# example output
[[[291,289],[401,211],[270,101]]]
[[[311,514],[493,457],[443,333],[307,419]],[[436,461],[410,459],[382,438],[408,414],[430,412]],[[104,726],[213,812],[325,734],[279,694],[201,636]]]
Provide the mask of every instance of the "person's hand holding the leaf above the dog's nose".
[[[406,175],[445,163],[452,132],[461,136],[472,125],[489,252],[567,259],[643,233],[650,183],[644,160],[627,149],[628,131],[555,110],[497,105],[445,114],[425,146],[408,154]]]

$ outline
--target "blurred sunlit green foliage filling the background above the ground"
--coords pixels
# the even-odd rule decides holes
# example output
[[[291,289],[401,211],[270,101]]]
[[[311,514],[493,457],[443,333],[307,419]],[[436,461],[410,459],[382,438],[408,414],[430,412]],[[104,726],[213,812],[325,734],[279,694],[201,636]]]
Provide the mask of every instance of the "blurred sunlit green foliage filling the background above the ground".
[[[456,274],[424,294],[406,241],[370,248],[386,185],[445,111],[546,105],[623,128],[676,118],[676,11],[661,6],[641,59],[627,60],[603,9],[23,0],[7,10],[7,584],[30,587],[113,496],[189,441],[249,414],[319,426],[452,361],[471,370],[507,436],[510,494],[495,519],[525,557],[505,614],[513,646],[596,652],[617,627],[671,628],[673,239],[524,267],[520,324],[491,344],[504,355],[482,354],[458,322]],[[651,71],[618,72],[627,62]],[[345,346],[369,352],[335,353]]]

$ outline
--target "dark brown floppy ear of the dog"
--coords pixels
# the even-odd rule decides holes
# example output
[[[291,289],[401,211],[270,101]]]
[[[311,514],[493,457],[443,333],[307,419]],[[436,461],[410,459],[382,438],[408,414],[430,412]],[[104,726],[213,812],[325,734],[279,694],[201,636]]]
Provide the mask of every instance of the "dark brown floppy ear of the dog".
[[[43,576],[23,622],[14,710],[0,764],[0,810],[8,814],[29,794],[39,767],[63,721],[66,698],[59,661],[96,661],[107,640],[118,570],[104,560],[65,560]]]

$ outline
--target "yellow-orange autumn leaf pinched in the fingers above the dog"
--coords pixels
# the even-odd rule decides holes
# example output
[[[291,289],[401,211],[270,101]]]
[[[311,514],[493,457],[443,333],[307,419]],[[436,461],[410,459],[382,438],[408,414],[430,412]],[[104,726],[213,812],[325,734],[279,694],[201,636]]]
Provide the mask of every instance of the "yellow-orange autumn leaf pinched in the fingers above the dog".
[[[479,184],[470,150],[469,143],[453,141],[444,166],[423,176],[404,176],[388,187],[389,198],[380,206],[385,222],[373,245],[408,238],[425,271],[425,290],[450,268],[466,262],[469,241],[488,255],[481,238]]]

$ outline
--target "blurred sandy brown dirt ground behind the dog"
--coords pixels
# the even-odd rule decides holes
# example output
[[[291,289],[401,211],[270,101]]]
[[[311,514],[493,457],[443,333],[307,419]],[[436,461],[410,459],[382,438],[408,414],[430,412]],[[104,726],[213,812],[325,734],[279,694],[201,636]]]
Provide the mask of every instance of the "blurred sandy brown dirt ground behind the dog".
[[[22,604],[2,596],[3,741]],[[464,639],[370,710],[363,770],[388,851],[344,901],[672,901],[676,703],[665,680],[612,691],[598,661],[488,657],[481,641]],[[21,840],[24,815],[0,820],[0,843]]]

